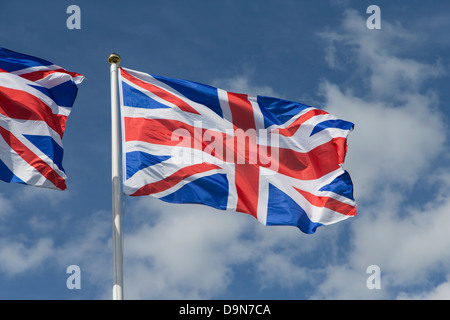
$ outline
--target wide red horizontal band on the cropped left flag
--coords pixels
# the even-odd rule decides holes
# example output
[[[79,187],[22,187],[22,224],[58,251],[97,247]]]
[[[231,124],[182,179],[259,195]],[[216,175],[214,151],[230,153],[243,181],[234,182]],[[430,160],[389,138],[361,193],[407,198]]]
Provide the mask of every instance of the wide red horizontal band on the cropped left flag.
[[[13,119],[45,121],[61,137],[67,120],[67,116],[53,114],[49,106],[32,94],[5,87],[0,87],[0,113]]]

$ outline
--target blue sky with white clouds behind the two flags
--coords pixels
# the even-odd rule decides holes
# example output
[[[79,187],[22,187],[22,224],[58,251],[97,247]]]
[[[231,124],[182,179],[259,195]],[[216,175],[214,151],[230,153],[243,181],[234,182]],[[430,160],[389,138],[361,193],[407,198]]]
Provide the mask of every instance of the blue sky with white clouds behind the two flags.
[[[81,29],[69,30],[69,5]],[[381,29],[366,9],[381,9]],[[358,216],[306,235],[126,198],[128,299],[450,298],[448,1],[2,1],[0,46],[85,75],[68,190],[0,183],[0,299],[111,299],[109,64],[271,95],[355,123]],[[81,289],[69,290],[69,265]],[[369,290],[367,267],[381,271]]]

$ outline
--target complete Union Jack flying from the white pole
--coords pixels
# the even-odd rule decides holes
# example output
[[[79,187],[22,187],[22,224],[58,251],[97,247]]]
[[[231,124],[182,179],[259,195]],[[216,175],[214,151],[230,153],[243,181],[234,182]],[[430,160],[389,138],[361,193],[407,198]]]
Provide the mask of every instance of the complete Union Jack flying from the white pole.
[[[353,123],[307,105],[119,71],[124,193],[250,214],[305,233],[356,215]]]

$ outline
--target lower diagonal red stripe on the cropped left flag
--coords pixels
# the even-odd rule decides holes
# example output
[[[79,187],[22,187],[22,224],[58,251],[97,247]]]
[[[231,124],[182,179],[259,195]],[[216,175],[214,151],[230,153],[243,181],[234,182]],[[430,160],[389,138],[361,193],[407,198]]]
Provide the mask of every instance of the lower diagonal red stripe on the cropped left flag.
[[[3,140],[30,166],[39,171],[46,179],[55,185],[58,189],[65,190],[66,182],[55,170],[47,163],[27,148],[19,139],[17,139],[11,132],[3,127],[0,127],[0,135]],[[26,182],[26,181],[25,181]]]

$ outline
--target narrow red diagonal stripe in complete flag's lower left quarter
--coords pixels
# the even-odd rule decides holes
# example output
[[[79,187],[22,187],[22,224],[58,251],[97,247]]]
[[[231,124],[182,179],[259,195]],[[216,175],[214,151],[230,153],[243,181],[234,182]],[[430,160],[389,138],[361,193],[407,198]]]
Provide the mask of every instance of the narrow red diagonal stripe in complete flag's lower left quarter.
[[[220,167],[210,164],[210,163],[199,163],[189,167],[184,167],[183,169],[178,170],[177,172],[171,174],[168,177],[165,177],[163,180],[146,184],[135,193],[131,194],[132,196],[142,196],[148,194],[155,194],[167,190],[183,179],[188,178],[194,174],[202,173],[214,169],[220,169]]]

